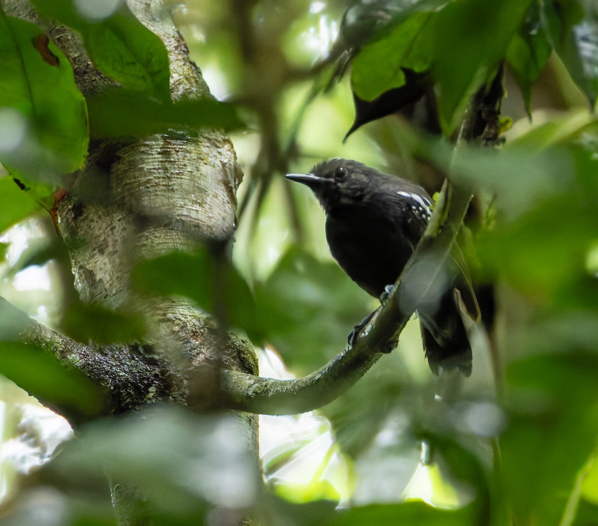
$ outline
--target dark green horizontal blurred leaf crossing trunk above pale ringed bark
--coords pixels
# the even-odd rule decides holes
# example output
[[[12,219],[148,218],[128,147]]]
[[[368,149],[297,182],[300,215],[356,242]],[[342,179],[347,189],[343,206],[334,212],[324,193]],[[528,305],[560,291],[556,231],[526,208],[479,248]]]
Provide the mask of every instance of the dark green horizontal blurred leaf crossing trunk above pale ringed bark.
[[[236,107],[215,99],[172,103],[129,90],[106,90],[87,99],[90,133],[94,137],[144,137],[169,129],[243,127]]]

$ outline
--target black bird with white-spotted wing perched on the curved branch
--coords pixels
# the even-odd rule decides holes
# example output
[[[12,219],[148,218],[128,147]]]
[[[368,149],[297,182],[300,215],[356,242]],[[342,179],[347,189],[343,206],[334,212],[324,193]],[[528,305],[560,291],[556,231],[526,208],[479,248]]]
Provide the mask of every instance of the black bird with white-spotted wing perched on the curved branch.
[[[394,284],[426,229],[430,196],[416,184],[347,159],[328,160],[310,174],[286,178],[313,190],[326,212],[332,256],[359,287],[380,297],[387,285]],[[426,301],[417,309],[423,347],[435,374],[442,367],[458,368],[469,376],[471,346],[454,288],[466,288],[462,294],[470,289],[459,265],[449,267],[450,278],[437,301]]]

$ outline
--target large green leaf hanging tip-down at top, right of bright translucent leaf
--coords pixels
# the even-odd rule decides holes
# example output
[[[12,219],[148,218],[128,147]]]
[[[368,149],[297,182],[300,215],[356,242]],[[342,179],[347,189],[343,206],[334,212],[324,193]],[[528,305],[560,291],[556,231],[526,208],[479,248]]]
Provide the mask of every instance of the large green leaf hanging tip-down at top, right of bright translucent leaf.
[[[531,0],[450,2],[434,17],[432,75],[446,136],[462,120],[469,98],[492,79]]]

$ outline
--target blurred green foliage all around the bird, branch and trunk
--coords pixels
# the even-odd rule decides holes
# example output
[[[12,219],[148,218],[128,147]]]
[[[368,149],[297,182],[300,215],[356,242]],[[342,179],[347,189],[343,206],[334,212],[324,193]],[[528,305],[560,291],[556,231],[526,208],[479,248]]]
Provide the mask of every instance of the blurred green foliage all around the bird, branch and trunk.
[[[493,285],[496,315],[487,335],[475,335],[474,374],[454,398],[435,398],[444,386],[427,369],[415,321],[396,351],[318,415],[264,417],[266,489],[227,415],[150,408],[143,418],[81,430],[48,465],[48,479],[20,492],[7,524],[114,524],[106,474],[144,489],[157,524],[225,523],[234,507],[266,524],[598,522],[593,2],[169,4],[217,99],[185,108],[169,102],[163,48],[122,6],[90,20],[66,0],[33,3],[80,31],[97,67],[124,89],[84,100],[41,29],[0,14],[0,159],[26,190],[0,178],[0,228],[17,225],[0,245],[1,291],[23,311],[81,340],[143,333],[127,313],[80,308],[42,208],[60,175],[83,162],[88,124],[93,137],[193,123],[229,130],[245,172],[223,290],[228,324],[269,349],[263,374],[322,366],[376,306],[331,260],[318,203],[282,178],[328,157],[359,159],[437,190],[438,176],[417,156],[471,187],[483,211],[471,218],[472,270]],[[333,44],[339,32],[344,54]],[[328,53],[349,62],[338,82]],[[132,66],[119,69],[125,56]],[[504,144],[454,155],[446,139],[502,60]],[[445,139],[384,116],[422,93],[435,96]],[[135,278],[209,311],[212,272],[202,249],[148,262]],[[50,401],[89,399],[91,387],[41,351],[32,357],[3,343],[1,352],[0,369],[20,387],[47,388]],[[45,460],[59,431],[39,424],[23,394],[2,385],[3,451],[29,440]],[[31,455],[20,455],[3,457],[7,485],[30,467]],[[216,457],[226,461],[210,463]],[[35,515],[39,506],[49,519]]]

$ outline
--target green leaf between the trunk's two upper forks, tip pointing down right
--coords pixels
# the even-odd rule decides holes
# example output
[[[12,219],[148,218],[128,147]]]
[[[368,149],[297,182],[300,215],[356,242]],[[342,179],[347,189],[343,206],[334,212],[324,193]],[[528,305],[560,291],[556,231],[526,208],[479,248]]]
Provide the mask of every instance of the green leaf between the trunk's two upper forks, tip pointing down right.
[[[97,69],[124,87],[170,100],[170,69],[164,44],[120,3],[111,16],[92,22],[72,0],[34,0],[38,12],[59,20],[83,36]],[[89,2],[92,5],[92,2]],[[118,5],[118,4],[117,4]]]

